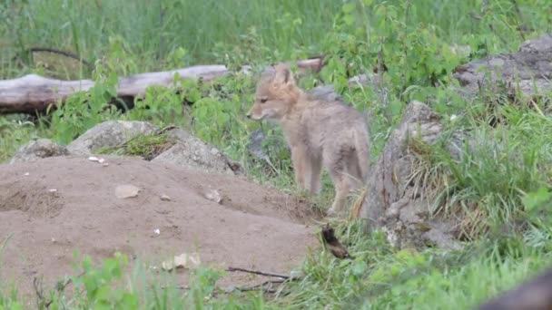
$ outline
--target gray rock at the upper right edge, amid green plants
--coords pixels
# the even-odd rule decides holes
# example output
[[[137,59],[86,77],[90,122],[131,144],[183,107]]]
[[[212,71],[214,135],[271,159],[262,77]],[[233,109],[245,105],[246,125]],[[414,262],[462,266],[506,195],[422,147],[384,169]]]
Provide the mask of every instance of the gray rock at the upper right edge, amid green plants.
[[[486,74],[489,80],[485,78]],[[468,93],[478,92],[478,85],[500,83],[510,96],[517,87],[526,95],[551,91],[552,35],[542,34],[527,40],[517,53],[501,53],[459,65],[453,76]]]

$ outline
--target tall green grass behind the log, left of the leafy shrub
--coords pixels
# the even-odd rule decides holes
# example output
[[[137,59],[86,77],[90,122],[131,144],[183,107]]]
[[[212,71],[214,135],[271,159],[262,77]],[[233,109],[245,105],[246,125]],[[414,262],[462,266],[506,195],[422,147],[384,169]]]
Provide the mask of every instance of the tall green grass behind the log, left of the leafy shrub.
[[[179,47],[188,52],[181,65],[188,59],[212,63],[224,56],[214,53],[217,44],[238,44],[250,31],[262,38],[259,47],[278,51],[280,57],[309,47],[317,53],[340,5],[336,0],[8,0],[0,5],[0,16],[5,16],[0,44],[6,48],[0,77],[16,74],[11,61],[21,49],[49,46],[94,61],[107,53],[110,37],[117,36],[141,60],[136,71],[160,68]]]

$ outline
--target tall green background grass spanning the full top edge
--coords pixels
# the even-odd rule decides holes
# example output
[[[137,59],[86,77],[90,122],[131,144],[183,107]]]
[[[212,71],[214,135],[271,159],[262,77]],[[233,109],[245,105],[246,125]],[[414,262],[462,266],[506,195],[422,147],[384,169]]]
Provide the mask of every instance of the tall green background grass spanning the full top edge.
[[[550,10],[546,0],[491,4],[478,0],[363,2],[371,5],[366,6],[362,26],[371,28],[375,36],[385,35],[376,22],[389,14],[389,27],[396,26],[393,20],[411,30],[419,24],[433,24],[439,38],[449,43],[466,43],[479,34],[492,34],[496,40],[488,38],[484,47],[488,52],[495,52],[500,45],[512,47],[525,38],[512,29],[512,24],[540,32],[550,28],[549,14],[541,14]],[[402,7],[409,14],[379,11],[381,4]],[[123,41],[124,55],[136,61],[129,73],[163,68],[172,57],[177,60],[174,65],[220,62],[232,47],[247,44],[244,35],[259,38],[250,44],[260,49],[264,58],[322,53],[326,52],[322,43],[333,29],[341,5],[341,0],[5,0],[0,4],[0,78],[22,73],[19,61],[33,67],[33,57],[24,53],[32,46],[73,51],[94,62],[109,53],[113,44]],[[186,52],[178,52],[179,48]],[[247,53],[248,49],[240,51]],[[89,75],[75,63],[67,63],[71,61],[58,63],[64,68],[54,68],[53,73],[64,77]]]

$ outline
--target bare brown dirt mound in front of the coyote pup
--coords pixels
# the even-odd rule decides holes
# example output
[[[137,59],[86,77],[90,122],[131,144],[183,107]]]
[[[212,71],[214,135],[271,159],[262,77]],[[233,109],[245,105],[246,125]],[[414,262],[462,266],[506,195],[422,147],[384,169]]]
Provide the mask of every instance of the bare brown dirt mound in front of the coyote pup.
[[[0,238],[11,236],[0,253],[3,285],[14,278],[30,293],[34,276],[44,276],[53,286],[74,273],[75,248],[94,260],[121,251],[157,266],[198,251],[202,264],[289,273],[316,242],[308,206],[275,189],[167,163],[104,159],[108,165],[84,157],[0,165]],[[137,197],[117,199],[123,184],[138,187]]]

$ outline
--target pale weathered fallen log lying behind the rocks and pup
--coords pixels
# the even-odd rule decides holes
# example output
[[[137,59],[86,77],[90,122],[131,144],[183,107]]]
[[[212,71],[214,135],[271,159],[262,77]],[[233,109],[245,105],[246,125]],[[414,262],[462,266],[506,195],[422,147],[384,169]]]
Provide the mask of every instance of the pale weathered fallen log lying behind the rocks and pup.
[[[300,70],[320,70],[322,57],[301,60],[297,62]],[[249,66],[243,66],[242,71],[248,72]],[[202,79],[209,82],[212,79],[230,73],[225,65],[196,65],[188,68],[156,72],[139,73],[119,78],[116,86],[117,97],[134,98],[142,96],[148,86],[173,85],[174,74],[181,78]],[[64,102],[73,92],[87,91],[94,86],[94,81],[62,81],[28,74],[23,77],[0,81],[0,114],[35,113],[46,111],[49,105]]]

